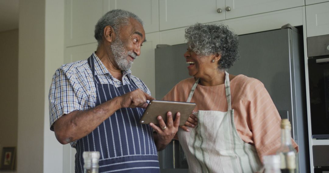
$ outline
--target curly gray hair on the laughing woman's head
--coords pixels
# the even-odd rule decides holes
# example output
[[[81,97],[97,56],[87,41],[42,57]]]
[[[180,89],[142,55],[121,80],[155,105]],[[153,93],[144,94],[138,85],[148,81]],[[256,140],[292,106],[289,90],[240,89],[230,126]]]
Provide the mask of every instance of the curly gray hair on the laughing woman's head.
[[[195,24],[185,29],[188,47],[198,56],[220,54],[219,69],[229,69],[240,58],[238,35],[222,24]]]

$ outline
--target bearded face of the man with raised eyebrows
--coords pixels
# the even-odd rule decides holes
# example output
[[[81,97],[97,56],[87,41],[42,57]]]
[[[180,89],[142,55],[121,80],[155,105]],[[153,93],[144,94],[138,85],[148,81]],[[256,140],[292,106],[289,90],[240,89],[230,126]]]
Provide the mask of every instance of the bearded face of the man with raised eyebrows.
[[[127,26],[121,27],[110,45],[114,62],[120,70],[130,69],[133,61],[140,55],[140,47],[144,41],[145,31],[135,19],[130,19]]]

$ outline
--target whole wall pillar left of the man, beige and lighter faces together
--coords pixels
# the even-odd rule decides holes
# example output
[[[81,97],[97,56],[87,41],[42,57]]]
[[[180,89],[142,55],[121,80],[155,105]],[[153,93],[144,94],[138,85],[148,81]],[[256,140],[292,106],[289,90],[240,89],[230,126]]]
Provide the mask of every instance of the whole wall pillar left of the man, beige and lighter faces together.
[[[48,110],[52,75],[63,64],[63,9],[62,0],[19,2],[19,173],[63,172],[63,145],[49,130]]]

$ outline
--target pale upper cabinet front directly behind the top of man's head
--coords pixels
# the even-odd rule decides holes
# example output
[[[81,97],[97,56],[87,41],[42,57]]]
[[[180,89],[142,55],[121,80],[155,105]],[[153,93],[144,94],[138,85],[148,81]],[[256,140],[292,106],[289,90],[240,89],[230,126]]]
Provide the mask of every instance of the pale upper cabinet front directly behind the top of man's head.
[[[113,9],[138,15],[144,22],[146,33],[159,31],[159,0],[65,0],[65,47],[96,42],[97,21]]]

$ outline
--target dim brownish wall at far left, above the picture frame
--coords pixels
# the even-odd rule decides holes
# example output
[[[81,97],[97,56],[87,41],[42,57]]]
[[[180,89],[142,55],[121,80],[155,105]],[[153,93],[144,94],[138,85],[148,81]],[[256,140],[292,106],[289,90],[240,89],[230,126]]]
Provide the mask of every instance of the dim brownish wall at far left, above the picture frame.
[[[17,146],[18,29],[0,32],[0,40],[1,154],[2,147]]]

